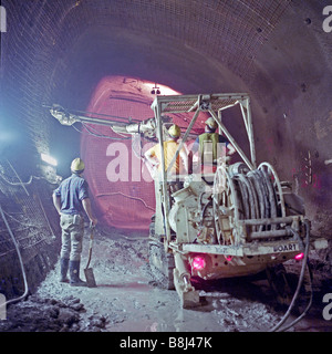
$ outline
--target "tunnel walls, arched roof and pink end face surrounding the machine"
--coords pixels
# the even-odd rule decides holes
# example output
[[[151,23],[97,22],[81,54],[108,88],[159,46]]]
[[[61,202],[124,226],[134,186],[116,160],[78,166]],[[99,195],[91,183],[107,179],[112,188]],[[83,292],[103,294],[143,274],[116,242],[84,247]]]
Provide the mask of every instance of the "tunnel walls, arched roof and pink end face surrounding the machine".
[[[328,0],[1,1],[0,292],[24,292],[23,263],[33,293],[58,261],[52,191],[77,156],[100,227],[148,231],[154,190],[135,180],[135,156],[127,180],[107,175],[123,137],[63,126],[49,107],[142,121],[154,116],[154,87],[159,95],[248,93],[257,159],[292,183],[312,237],[329,240],[320,261],[331,263],[330,8]],[[235,119],[241,140],[240,129]]]

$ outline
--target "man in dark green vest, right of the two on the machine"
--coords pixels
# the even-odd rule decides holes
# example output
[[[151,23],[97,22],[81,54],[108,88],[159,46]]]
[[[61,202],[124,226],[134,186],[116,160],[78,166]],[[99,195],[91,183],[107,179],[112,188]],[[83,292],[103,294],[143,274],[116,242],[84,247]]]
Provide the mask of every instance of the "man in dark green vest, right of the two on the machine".
[[[218,155],[222,152],[219,144],[226,145],[227,155],[234,155],[236,153],[236,149],[228,142],[228,139],[222,135],[216,133],[217,127],[217,122],[212,117],[209,117],[205,122],[205,133],[200,134],[193,145],[193,154],[197,153],[197,150],[199,149],[201,166],[206,164],[211,164],[215,166],[217,165],[218,158],[221,157]]]

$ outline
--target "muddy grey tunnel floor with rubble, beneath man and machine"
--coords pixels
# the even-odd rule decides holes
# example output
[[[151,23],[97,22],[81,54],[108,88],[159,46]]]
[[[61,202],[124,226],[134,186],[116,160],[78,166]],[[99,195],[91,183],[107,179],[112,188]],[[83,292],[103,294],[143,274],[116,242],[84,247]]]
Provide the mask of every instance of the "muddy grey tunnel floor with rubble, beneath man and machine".
[[[133,238],[133,235],[131,235]],[[184,310],[176,291],[159,289],[151,274],[148,240],[113,230],[96,231],[91,267],[97,288],[59,282],[60,262],[38,291],[7,309],[0,332],[267,332],[283,316],[264,279],[195,282],[203,305]],[[84,238],[81,278],[84,279],[89,237]],[[314,296],[307,316],[289,331],[332,332],[323,319],[322,296],[332,292],[331,267],[313,260]],[[291,263],[294,274],[300,266]],[[329,291],[330,289],[330,291]],[[289,323],[305,308],[299,302]]]

